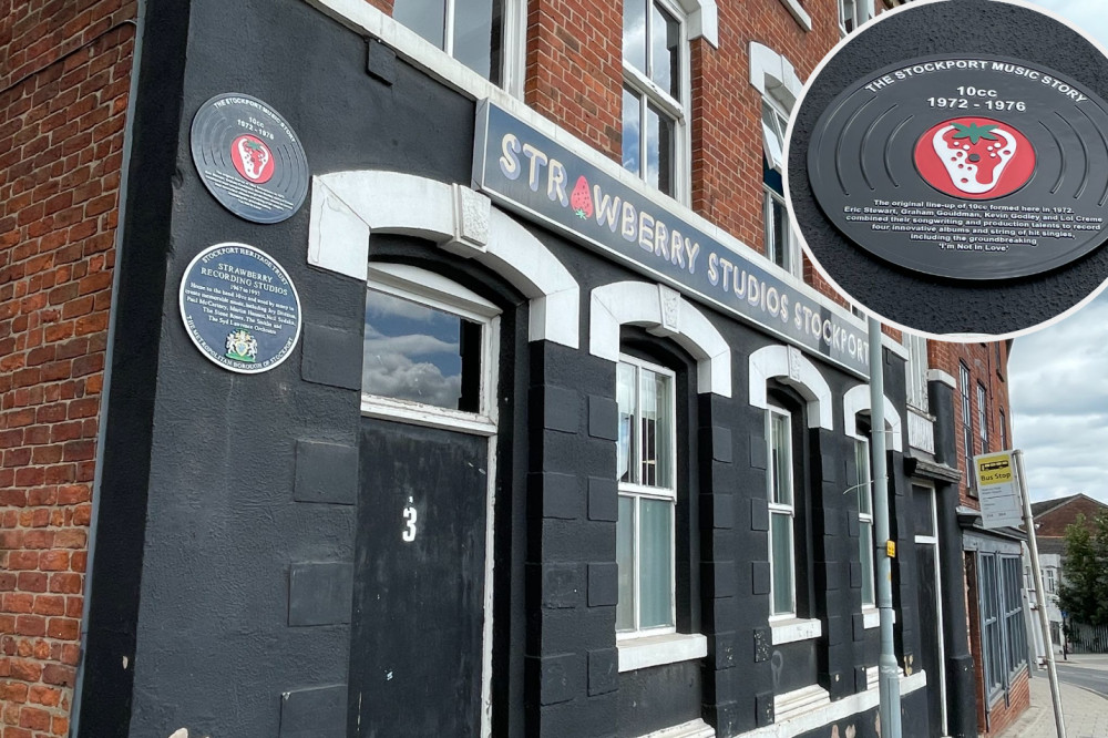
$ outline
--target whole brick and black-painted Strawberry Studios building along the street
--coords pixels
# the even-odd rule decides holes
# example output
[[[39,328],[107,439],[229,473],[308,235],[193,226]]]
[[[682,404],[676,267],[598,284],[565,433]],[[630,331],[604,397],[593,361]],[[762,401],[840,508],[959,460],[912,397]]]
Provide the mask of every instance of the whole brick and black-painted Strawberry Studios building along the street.
[[[871,417],[782,199],[886,3],[432,4],[9,8],[3,737],[874,738],[874,431],[904,735],[999,730],[1007,347],[888,331]]]

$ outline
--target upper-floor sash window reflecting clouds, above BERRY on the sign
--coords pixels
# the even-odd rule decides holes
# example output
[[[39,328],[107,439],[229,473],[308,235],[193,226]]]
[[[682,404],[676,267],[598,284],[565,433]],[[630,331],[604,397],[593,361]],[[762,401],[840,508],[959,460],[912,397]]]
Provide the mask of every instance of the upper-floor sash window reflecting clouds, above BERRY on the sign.
[[[688,34],[665,0],[624,2],[623,165],[678,199],[686,197]]]

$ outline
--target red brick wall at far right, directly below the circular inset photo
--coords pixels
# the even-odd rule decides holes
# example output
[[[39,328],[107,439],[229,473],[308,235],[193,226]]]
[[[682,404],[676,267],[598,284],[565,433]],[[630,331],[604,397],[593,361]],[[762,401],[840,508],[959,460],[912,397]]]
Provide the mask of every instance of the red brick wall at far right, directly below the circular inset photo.
[[[988,448],[1001,450],[1001,411],[1004,412],[1008,447],[1015,445],[1012,437],[1012,409],[1008,404],[1008,345],[1005,341],[993,344],[952,344],[930,341],[927,360],[932,369],[942,369],[954,378],[954,433],[958,453],[958,469],[965,472],[971,467],[966,459],[965,434],[962,432],[962,386],[958,365],[964,363],[970,369],[970,388],[972,412],[970,416],[973,433],[973,452],[981,453],[981,428],[977,422],[977,383],[985,387],[988,398]],[[979,508],[976,493],[970,490],[965,481],[961,485],[961,502],[971,508]]]

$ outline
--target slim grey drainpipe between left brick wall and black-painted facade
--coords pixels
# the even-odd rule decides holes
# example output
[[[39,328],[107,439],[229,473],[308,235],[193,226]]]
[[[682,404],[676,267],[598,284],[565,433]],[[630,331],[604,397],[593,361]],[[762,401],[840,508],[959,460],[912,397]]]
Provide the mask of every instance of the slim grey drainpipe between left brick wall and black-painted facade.
[[[123,160],[120,164],[120,204],[115,225],[115,267],[112,270],[112,303],[107,321],[107,346],[104,348],[104,387],[100,393],[100,428],[96,433],[96,465],[92,483],[92,511],[89,517],[89,552],[84,566],[84,601],[81,607],[81,660],[73,681],[73,705],[70,709],[70,738],[80,734],[81,695],[84,688],[84,662],[89,650],[89,608],[92,603],[92,567],[96,554],[96,531],[100,521],[100,483],[104,468],[104,441],[107,423],[109,397],[112,391],[112,355],[115,347],[115,322],[119,318],[120,264],[123,255],[123,230],[126,223],[127,181],[131,170],[131,148],[134,142],[135,100],[138,96],[138,68],[142,63],[143,32],[146,24],[146,0],[137,0],[134,51],[131,55],[131,88],[127,91],[127,113],[123,129]]]

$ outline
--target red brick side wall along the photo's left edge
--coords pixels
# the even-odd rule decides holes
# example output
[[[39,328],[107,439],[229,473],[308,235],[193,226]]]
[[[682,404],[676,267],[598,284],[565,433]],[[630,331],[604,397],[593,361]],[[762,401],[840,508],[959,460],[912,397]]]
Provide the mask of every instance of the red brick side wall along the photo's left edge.
[[[69,730],[134,6],[6,3],[0,39],[0,731]]]

